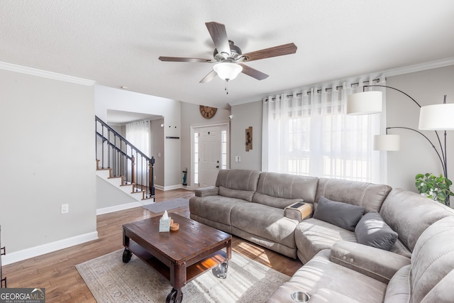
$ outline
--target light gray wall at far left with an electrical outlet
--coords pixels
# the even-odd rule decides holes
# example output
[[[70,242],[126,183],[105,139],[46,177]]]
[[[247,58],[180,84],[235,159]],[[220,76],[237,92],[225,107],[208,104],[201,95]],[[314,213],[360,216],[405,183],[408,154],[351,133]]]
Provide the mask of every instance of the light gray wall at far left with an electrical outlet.
[[[0,83],[4,260],[68,238],[97,238],[93,87],[6,70]]]

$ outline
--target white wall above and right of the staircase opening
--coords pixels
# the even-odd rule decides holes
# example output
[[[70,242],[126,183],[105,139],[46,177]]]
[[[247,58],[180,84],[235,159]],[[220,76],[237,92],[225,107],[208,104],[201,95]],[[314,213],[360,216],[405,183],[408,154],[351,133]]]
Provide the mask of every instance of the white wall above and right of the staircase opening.
[[[154,97],[146,94],[128,92],[124,89],[114,89],[96,85],[94,88],[95,112],[99,119],[106,121],[107,110],[131,111],[143,114],[153,114],[164,117],[164,138],[181,136],[181,102],[172,99]],[[181,140],[166,139],[164,141],[165,158],[155,155],[155,167],[164,167],[163,187],[179,186]]]

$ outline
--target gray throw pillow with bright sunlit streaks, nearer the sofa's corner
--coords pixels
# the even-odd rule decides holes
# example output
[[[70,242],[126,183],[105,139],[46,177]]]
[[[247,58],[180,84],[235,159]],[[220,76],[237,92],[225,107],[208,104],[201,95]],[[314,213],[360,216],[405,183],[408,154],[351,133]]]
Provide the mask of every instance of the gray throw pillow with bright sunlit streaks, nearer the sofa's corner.
[[[371,211],[362,216],[356,225],[355,236],[358,243],[390,250],[398,235],[383,221],[379,213]]]

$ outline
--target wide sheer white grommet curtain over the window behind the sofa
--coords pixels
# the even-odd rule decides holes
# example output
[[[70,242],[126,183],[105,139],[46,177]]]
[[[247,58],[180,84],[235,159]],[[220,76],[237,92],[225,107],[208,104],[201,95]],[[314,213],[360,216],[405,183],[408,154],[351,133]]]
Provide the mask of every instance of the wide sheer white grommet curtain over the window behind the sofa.
[[[380,153],[372,147],[382,115],[345,114],[347,96],[362,92],[363,82],[264,99],[262,170],[382,182]],[[384,85],[384,79],[366,83]]]

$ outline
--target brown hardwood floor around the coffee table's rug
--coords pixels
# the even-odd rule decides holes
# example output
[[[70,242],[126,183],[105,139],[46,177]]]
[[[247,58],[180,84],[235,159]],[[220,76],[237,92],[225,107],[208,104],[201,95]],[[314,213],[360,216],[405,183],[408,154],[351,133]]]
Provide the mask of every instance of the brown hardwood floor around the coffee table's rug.
[[[189,199],[193,195],[194,192],[185,189],[156,190],[155,199],[162,202],[179,197]],[[172,211],[189,217],[189,207]],[[123,224],[161,215],[143,207],[100,215],[97,217],[97,240],[4,266],[3,274],[8,279],[8,287],[45,287],[46,302],[96,302],[74,265],[123,248]],[[285,275],[292,276],[301,267],[299,260],[235,236],[232,249]]]

